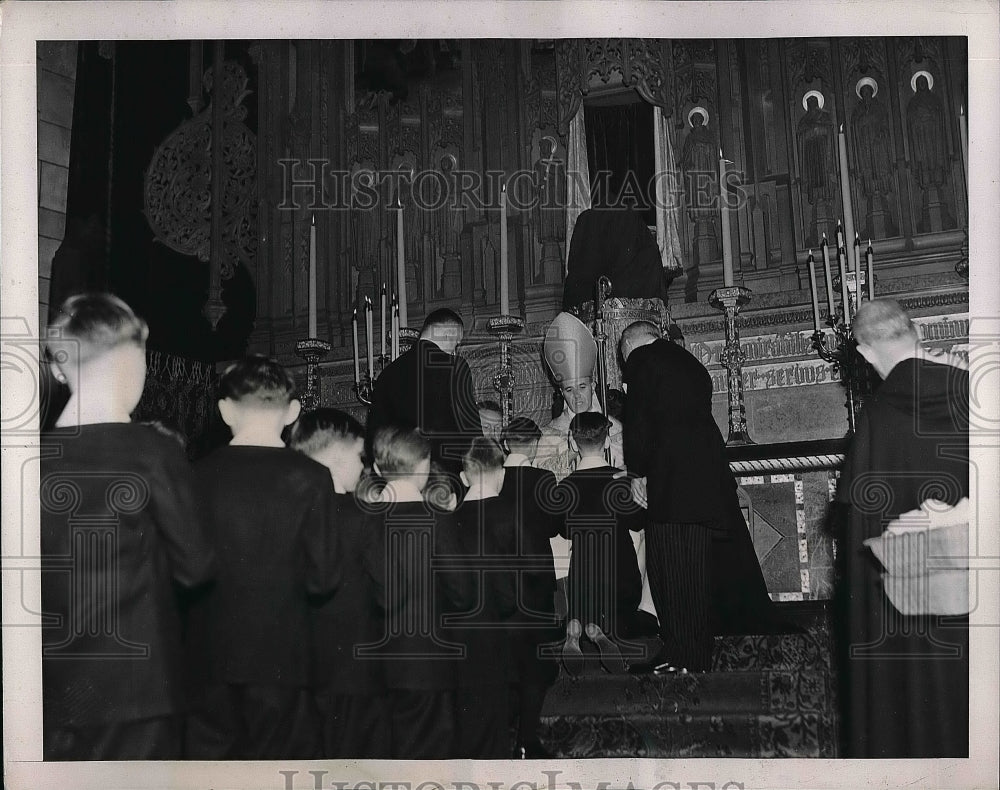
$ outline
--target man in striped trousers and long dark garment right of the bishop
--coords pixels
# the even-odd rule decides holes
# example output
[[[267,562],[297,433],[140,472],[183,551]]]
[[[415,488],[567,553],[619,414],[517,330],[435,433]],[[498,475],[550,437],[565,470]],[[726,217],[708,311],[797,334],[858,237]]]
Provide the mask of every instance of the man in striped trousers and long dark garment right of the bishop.
[[[712,416],[712,378],[647,321],[625,328],[624,446],[646,479],[646,570],[662,660],[711,669],[713,635],[775,630],[726,444]],[[633,491],[644,496],[639,481]]]

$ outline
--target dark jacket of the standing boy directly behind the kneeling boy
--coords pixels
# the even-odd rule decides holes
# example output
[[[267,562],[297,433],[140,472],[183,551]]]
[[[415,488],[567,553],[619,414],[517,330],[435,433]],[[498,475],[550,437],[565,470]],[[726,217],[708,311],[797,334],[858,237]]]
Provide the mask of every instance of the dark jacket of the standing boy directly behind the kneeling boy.
[[[518,611],[514,619],[546,622],[555,612],[552,596],[556,590],[549,540],[562,527],[556,476],[533,466],[509,466],[505,471],[500,496],[512,506],[517,525]]]

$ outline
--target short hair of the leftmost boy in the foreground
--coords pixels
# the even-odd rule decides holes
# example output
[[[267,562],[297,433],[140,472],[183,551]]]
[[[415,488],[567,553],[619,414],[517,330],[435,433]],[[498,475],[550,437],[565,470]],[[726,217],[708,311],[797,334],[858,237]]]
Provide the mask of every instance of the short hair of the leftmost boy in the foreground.
[[[52,337],[48,352],[53,354],[54,347],[69,350],[71,358],[76,357],[77,362],[96,359],[126,344],[143,348],[149,337],[146,322],[124,301],[109,293],[69,297],[59,308],[49,331]]]

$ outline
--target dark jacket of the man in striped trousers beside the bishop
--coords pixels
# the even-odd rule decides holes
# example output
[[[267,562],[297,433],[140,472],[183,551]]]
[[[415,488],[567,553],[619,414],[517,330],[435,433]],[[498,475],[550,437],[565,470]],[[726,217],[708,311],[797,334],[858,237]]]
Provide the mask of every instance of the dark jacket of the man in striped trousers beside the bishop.
[[[712,378],[681,346],[657,340],[625,365],[624,449],[630,474],[647,478],[653,522],[727,518],[736,481],[712,416]]]

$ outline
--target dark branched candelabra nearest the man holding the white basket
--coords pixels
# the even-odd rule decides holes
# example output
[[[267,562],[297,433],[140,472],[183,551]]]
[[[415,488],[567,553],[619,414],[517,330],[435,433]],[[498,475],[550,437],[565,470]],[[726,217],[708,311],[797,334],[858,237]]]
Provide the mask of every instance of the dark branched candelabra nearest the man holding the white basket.
[[[851,329],[851,316],[857,311],[858,294],[863,293],[867,286],[867,275],[864,270],[845,272],[843,281],[834,281],[835,287],[843,288],[847,295],[846,310],[842,300],[835,312],[827,314],[826,325],[833,332],[833,343],[830,343],[827,333],[817,329],[812,333],[812,346],[820,358],[833,364],[834,371],[840,373],[841,381],[847,390],[847,423],[851,433],[857,425],[858,414],[864,397],[870,390],[868,361],[858,353]]]

